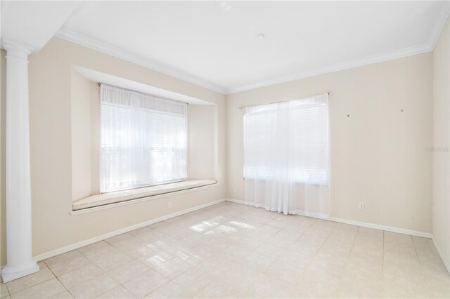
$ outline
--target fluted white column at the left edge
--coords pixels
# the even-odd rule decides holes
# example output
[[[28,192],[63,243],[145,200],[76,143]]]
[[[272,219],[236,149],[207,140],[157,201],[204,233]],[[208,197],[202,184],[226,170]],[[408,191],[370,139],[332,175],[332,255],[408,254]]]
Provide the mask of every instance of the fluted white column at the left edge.
[[[32,258],[28,55],[20,44],[6,50],[6,267],[4,282],[39,271]]]

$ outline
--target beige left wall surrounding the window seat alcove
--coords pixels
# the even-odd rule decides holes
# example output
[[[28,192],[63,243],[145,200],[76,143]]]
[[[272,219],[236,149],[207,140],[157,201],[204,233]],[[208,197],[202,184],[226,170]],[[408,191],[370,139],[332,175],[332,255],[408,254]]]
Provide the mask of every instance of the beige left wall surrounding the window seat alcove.
[[[2,51],[2,60],[3,57],[4,51]],[[59,38],[51,39],[39,53],[30,55],[29,60],[34,255],[225,197],[226,111],[224,95]],[[70,100],[72,65],[157,86],[217,105],[216,179],[219,184],[170,197],[82,215],[70,215],[72,204],[72,107]],[[3,73],[4,65],[2,65]],[[1,81],[4,81],[3,77]],[[2,117],[2,119],[4,118]],[[3,200],[4,197],[2,197],[2,202]],[[171,210],[167,208],[169,201],[172,202]],[[4,211],[3,208],[2,211]],[[4,235],[2,230],[1,237],[4,238]],[[2,265],[6,263],[3,255],[5,250],[6,246],[2,241]]]

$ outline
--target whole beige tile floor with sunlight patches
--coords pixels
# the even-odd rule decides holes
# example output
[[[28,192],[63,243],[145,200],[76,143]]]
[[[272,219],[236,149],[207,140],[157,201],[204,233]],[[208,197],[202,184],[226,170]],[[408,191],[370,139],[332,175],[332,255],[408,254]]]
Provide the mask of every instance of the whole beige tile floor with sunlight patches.
[[[449,298],[430,239],[224,202],[39,263],[1,298]]]

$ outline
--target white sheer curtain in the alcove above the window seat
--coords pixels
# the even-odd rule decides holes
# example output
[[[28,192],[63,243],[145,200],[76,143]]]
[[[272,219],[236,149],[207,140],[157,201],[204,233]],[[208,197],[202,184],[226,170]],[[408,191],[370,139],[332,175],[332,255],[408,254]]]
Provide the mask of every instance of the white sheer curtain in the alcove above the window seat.
[[[101,84],[100,190],[186,178],[187,105]]]

